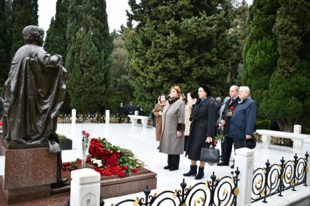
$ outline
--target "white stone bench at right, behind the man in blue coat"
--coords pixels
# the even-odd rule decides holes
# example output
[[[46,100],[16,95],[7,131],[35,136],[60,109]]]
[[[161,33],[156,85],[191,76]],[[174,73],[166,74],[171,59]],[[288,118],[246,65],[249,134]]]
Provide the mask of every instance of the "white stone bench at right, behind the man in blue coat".
[[[310,135],[300,134],[300,133],[287,133],[274,130],[256,130],[256,133],[262,135],[262,144],[265,149],[270,147],[270,140],[272,137],[282,137],[286,139],[291,139],[293,141],[293,154],[304,155],[303,146],[304,140],[310,139]]]

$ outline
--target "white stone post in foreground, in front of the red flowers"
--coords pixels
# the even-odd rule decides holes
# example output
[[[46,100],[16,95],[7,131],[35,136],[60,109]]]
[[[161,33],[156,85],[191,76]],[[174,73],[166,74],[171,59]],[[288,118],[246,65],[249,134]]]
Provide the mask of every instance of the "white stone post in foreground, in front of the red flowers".
[[[83,168],[71,172],[70,205],[100,205],[100,179],[98,172]]]

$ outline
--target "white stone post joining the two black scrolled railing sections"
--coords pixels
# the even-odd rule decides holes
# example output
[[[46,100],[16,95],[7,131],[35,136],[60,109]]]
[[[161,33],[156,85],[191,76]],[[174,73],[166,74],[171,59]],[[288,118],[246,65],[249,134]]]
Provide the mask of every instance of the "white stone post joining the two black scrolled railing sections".
[[[251,205],[253,168],[254,168],[254,150],[240,148],[236,150],[235,168],[238,168],[239,194],[237,196],[237,205]]]

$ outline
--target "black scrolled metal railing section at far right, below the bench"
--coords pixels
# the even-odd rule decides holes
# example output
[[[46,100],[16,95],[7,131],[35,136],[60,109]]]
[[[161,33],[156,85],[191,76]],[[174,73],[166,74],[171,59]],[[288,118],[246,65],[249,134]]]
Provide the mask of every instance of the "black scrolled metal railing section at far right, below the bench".
[[[282,157],[280,164],[273,165],[267,160],[266,167],[254,170],[251,203],[260,200],[267,203],[269,196],[282,196],[282,192],[289,189],[296,191],[296,185],[307,186],[308,152],[304,156],[298,159],[295,155],[293,160],[287,162]]]

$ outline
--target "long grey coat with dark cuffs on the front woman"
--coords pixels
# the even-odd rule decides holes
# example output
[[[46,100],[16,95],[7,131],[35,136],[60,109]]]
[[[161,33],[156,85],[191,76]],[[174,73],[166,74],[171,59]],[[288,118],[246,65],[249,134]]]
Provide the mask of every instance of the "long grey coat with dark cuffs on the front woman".
[[[178,99],[163,108],[162,133],[159,152],[168,155],[181,155],[184,152],[184,129],[185,129],[185,103]],[[177,137],[176,131],[182,130],[181,137]]]

